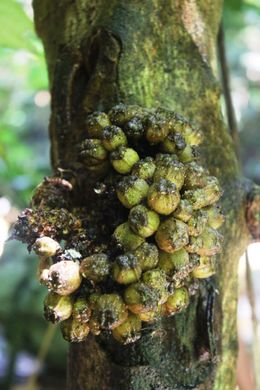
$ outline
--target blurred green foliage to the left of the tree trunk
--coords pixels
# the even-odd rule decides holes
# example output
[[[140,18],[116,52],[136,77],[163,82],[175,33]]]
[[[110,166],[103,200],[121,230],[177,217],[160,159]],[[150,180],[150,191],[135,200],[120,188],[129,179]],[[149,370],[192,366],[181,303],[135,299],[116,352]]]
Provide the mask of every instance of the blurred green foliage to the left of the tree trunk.
[[[50,95],[30,2],[1,0],[0,25],[0,218],[8,223],[50,174]],[[46,291],[35,278],[35,256],[20,243],[8,241],[0,261],[0,387],[2,381],[9,389],[36,368],[33,357],[47,329],[42,315]],[[64,374],[66,348],[57,332],[47,368]]]

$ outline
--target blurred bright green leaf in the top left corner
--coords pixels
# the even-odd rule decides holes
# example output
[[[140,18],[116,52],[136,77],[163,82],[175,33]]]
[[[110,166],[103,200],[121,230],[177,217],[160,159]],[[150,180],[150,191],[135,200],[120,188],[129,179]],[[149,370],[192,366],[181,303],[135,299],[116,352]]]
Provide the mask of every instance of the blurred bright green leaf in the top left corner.
[[[15,0],[0,1],[0,46],[37,54],[33,23]]]

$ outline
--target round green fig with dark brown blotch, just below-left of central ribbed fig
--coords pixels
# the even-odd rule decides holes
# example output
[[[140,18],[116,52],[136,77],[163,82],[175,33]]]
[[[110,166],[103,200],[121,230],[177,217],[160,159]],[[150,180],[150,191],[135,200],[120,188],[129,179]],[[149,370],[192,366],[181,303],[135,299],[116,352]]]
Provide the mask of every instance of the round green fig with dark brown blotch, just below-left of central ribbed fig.
[[[128,222],[130,228],[141,237],[150,237],[158,229],[160,224],[159,215],[155,211],[138,205],[131,209]]]

